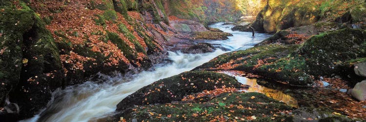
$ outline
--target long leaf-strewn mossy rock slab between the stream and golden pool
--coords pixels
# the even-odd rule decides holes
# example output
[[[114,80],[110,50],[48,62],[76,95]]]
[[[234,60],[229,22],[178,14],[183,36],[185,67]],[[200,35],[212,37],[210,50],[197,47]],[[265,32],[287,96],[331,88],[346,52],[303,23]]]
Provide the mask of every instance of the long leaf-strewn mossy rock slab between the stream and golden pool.
[[[269,44],[226,53],[193,70],[240,70],[265,78],[285,81],[290,85],[307,86],[312,79],[305,71],[305,59],[289,58],[298,45]]]

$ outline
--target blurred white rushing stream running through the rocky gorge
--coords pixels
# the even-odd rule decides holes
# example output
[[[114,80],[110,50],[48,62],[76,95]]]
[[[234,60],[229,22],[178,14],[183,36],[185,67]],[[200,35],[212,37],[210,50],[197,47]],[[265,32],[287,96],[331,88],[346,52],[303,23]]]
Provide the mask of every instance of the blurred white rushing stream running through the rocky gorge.
[[[54,92],[54,100],[34,118],[24,120],[25,122],[88,122],[116,110],[116,105],[123,98],[139,90],[154,81],[168,78],[184,71],[189,71],[204,62],[237,49],[253,47],[270,35],[256,34],[251,37],[248,32],[231,31],[232,25],[222,25],[217,23],[211,27],[219,28],[224,32],[233,34],[225,41],[209,41],[213,44],[220,44],[228,51],[216,50],[213,53],[205,54],[182,54],[169,52],[169,58],[173,61],[161,67],[156,67],[154,71],[144,71],[134,75],[132,78],[122,76],[108,77],[102,76],[103,83],[87,81],[81,85],[70,86],[64,90]]]

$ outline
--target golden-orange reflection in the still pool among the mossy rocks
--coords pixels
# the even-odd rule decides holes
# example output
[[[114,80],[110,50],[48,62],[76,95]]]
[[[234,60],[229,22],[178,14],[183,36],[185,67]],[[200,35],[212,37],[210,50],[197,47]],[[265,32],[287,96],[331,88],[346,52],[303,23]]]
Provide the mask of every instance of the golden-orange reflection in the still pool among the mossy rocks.
[[[293,98],[289,95],[286,95],[282,91],[261,86],[257,83],[256,79],[248,79],[248,78],[240,77],[240,76],[235,76],[235,78],[236,78],[236,80],[238,80],[239,82],[241,82],[243,84],[250,85],[249,89],[245,90],[245,92],[263,93],[267,97],[273,98],[273,99],[281,101],[281,102],[285,102],[288,106],[296,107],[296,108],[299,107],[297,100],[295,98]]]

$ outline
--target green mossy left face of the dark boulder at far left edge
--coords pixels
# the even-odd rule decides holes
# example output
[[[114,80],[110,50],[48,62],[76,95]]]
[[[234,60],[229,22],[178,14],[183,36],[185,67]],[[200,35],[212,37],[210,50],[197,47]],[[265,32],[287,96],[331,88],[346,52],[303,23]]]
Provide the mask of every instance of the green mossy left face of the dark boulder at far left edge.
[[[0,12],[0,80],[5,83],[0,88],[2,106],[9,91],[20,80],[23,34],[32,28],[34,15],[29,10],[13,10],[10,5],[0,6],[0,9],[4,9]]]

